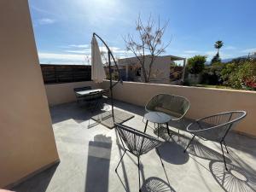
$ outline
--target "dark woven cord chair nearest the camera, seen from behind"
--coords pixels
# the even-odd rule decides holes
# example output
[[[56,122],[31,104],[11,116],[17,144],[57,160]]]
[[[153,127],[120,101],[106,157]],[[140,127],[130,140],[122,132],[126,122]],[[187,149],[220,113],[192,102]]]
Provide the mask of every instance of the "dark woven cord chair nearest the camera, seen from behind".
[[[157,138],[151,137],[146,133],[141,131],[137,131],[129,126],[119,125],[115,123],[116,130],[119,134],[119,138],[125,149],[124,154],[122,155],[121,159],[119,160],[119,164],[123,159],[125,153],[128,151],[131,154],[137,156],[137,168],[138,168],[138,177],[139,177],[139,191],[141,191],[141,179],[140,179],[140,156],[143,154],[147,154],[150,150],[156,149],[157,153],[160,156],[158,151],[158,147],[163,143]],[[161,160],[161,164],[164,168],[164,164]],[[118,166],[115,168],[115,172],[117,172]]]

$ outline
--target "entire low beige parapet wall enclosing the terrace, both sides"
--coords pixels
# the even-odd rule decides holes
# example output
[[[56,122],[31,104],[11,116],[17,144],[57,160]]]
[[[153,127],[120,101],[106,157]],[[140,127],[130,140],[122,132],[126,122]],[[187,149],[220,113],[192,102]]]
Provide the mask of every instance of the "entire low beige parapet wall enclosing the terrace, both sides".
[[[92,81],[74,82],[67,84],[45,84],[49,106],[66,102],[75,102],[73,88],[82,86],[109,89],[109,81],[95,84]],[[113,88],[116,100],[145,106],[150,98],[159,93],[185,96],[189,99],[188,118],[198,119],[214,113],[231,110],[245,110],[247,117],[237,125],[236,131],[256,137],[256,91],[224,90],[201,87],[188,87],[171,84],[144,84],[124,82]]]

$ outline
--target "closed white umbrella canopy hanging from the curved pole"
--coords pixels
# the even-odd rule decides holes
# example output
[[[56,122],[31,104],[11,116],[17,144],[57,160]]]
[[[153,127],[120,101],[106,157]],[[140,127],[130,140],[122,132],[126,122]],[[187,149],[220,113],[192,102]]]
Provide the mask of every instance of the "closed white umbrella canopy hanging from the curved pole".
[[[91,40],[91,79],[95,83],[102,83],[103,79],[106,79],[101,52],[94,36]]]

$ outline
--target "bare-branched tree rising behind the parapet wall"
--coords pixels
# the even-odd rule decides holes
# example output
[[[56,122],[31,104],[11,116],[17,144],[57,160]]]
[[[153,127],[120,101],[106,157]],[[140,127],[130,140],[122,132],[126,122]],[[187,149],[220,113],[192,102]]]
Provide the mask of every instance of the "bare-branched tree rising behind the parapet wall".
[[[160,26],[160,18],[158,19],[158,23],[155,23],[151,16],[149,16],[146,24],[143,24],[139,15],[136,22],[138,38],[134,38],[131,34],[128,34],[124,38],[127,51],[131,51],[136,55],[142,67],[145,83],[149,82],[155,58],[161,53],[164,53],[166,47],[171,43],[171,41],[168,44],[162,43],[162,37],[167,25],[168,21],[163,26]],[[148,67],[146,67],[146,57],[149,58]]]

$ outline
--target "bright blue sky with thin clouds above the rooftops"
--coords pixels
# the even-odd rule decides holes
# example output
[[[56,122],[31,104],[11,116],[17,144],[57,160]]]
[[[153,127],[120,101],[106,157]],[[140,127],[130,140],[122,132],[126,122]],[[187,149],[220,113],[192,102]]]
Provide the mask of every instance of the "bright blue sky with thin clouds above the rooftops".
[[[101,36],[113,55],[131,56],[124,37],[137,37],[136,20],[168,21],[163,55],[192,57],[216,54],[222,59],[256,51],[255,0],[29,0],[40,63],[90,64],[92,33]],[[104,50],[99,43],[100,49]]]

